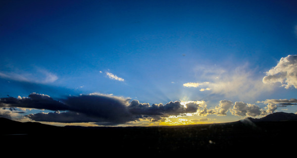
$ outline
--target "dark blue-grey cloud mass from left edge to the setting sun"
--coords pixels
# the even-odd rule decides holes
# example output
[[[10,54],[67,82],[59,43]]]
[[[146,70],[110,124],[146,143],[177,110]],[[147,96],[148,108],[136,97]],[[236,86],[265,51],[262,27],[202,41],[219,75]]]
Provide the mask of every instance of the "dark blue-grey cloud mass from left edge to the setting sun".
[[[159,120],[170,115],[196,113],[198,102],[181,104],[179,101],[163,104],[140,103],[138,100],[92,93],[88,95],[68,96],[60,101],[45,94],[32,93],[28,97],[0,98],[0,107],[35,108],[51,110],[50,113],[27,115],[36,121],[52,122],[97,122],[97,124],[115,125],[141,118]]]

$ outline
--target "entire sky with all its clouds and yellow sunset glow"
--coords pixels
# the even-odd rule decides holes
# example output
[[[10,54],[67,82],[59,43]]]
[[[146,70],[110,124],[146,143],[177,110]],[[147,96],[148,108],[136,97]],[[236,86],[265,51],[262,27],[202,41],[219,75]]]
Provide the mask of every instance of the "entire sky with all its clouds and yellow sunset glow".
[[[297,113],[295,0],[1,0],[0,117],[152,126]]]

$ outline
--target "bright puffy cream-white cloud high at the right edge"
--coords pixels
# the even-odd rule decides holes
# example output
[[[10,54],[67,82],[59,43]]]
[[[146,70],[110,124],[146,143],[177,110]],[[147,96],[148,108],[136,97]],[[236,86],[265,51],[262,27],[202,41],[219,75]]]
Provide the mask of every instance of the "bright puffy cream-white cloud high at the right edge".
[[[279,63],[266,72],[262,79],[264,83],[280,82],[286,89],[297,88],[297,55],[288,55],[281,58]]]

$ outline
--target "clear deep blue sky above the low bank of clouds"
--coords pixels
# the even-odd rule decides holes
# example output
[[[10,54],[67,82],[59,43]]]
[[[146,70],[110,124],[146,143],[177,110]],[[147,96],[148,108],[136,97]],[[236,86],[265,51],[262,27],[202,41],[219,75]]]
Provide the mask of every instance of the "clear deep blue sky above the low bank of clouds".
[[[293,85],[262,81],[296,54],[296,8],[294,0],[2,0],[0,97],[101,93],[150,105],[203,100],[208,109],[296,98]]]

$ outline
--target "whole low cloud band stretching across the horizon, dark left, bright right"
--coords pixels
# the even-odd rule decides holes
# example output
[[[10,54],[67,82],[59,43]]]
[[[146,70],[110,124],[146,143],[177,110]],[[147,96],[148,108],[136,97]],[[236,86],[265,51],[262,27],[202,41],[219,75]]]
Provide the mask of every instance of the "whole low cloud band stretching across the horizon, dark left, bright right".
[[[270,99],[262,102],[267,106],[260,108],[255,104],[221,100],[214,108],[207,108],[203,101],[169,102],[166,104],[140,103],[130,98],[92,93],[68,96],[60,101],[48,95],[31,93],[28,97],[0,98],[0,116],[12,118],[19,116],[18,108],[50,110],[26,115],[35,121],[83,123],[95,122],[98,125],[117,125],[131,121],[158,121],[170,116],[226,116],[227,112],[240,117],[258,117],[273,113],[280,106],[295,105],[297,99]]]

